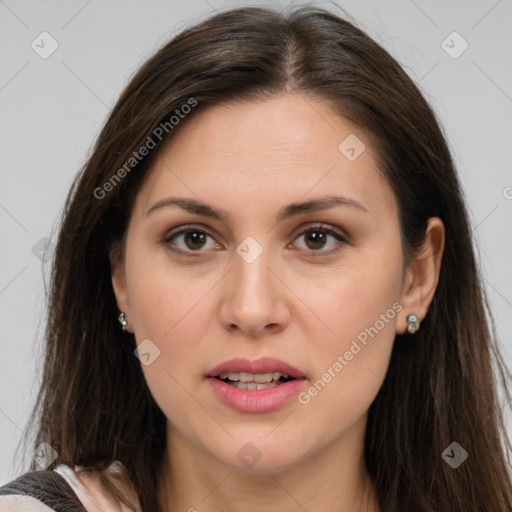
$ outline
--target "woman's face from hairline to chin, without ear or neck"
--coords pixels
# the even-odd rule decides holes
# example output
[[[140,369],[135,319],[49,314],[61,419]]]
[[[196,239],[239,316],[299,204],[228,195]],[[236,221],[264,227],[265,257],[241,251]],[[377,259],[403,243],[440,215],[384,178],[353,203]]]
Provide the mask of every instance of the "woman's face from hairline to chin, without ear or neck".
[[[170,444],[275,471],[362,447],[395,334],[418,313],[402,306],[405,276],[397,204],[365,132],[284,95],[179,127],[137,195],[113,284]],[[234,358],[248,366],[219,368]],[[250,365],[261,358],[274,361]],[[241,390],[212,374],[287,373],[275,360],[303,377]]]

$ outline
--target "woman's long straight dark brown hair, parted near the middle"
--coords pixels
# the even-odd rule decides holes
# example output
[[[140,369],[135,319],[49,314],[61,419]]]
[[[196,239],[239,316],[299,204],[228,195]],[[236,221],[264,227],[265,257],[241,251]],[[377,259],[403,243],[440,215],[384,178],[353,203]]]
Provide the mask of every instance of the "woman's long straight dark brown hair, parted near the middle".
[[[32,413],[35,446],[46,441],[58,452],[50,468],[78,464],[101,473],[121,461],[142,509],[161,510],[166,418],[134,356],[133,335],[116,320],[109,251],[123,240],[155,155],[187,122],[180,117],[171,126],[176,110],[195,101],[190,118],[209,105],[282,93],[328,100],[371,136],[399,206],[407,261],[421,246],[429,217],[445,225],[428,314],[414,336],[396,336],[369,409],[365,460],[382,510],[510,512],[511,446],[497,393],[500,384],[510,399],[510,373],[445,137],[393,57],[352,23],[310,6],[216,14],[163,46],[122,93],[63,213],[42,385]],[[166,122],[168,129],[155,137]],[[148,138],[154,147],[131,161]],[[457,469],[442,456],[452,442],[468,452]]]

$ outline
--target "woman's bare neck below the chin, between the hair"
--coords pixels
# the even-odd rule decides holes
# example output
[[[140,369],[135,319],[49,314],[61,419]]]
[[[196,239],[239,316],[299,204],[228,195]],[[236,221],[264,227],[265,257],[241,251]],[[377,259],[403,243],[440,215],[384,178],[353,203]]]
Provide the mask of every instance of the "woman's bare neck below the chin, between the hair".
[[[366,424],[366,417],[362,421]],[[325,449],[272,471],[223,464],[169,426],[159,486],[162,510],[380,512],[364,464],[364,430],[356,425]]]

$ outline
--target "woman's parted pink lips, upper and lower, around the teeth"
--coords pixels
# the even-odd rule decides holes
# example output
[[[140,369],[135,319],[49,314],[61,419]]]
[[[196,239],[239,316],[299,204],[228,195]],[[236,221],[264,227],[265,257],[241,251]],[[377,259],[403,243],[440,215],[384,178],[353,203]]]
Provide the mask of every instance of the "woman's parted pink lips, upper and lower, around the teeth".
[[[217,379],[221,373],[286,373],[293,380],[266,389],[238,389]],[[207,375],[217,398],[228,407],[240,412],[263,413],[279,409],[296,396],[306,382],[297,368],[279,359],[263,357],[256,361],[236,358],[213,368]]]

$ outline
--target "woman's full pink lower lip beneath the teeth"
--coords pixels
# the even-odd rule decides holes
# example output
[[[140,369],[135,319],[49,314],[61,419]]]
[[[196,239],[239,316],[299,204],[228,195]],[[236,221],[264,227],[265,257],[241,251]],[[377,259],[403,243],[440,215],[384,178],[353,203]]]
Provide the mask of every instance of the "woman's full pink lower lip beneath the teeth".
[[[270,412],[286,404],[303,387],[305,378],[283,382],[267,389],[238,389],[208,377],[215,394],[225,405],[241,412]]]

